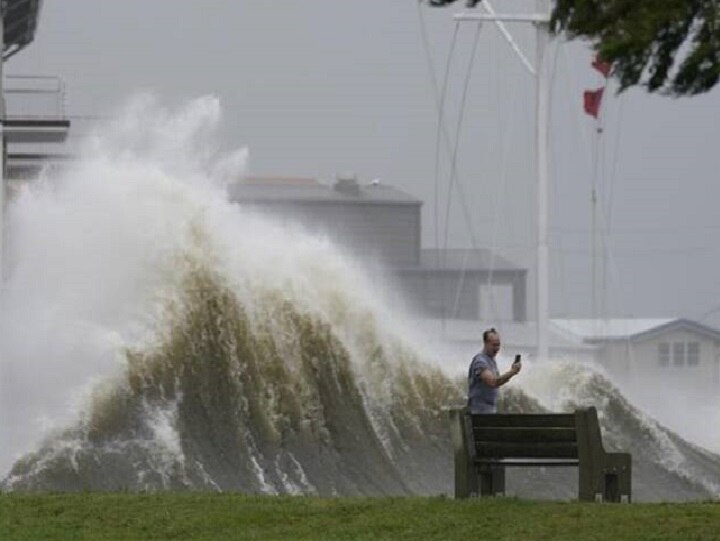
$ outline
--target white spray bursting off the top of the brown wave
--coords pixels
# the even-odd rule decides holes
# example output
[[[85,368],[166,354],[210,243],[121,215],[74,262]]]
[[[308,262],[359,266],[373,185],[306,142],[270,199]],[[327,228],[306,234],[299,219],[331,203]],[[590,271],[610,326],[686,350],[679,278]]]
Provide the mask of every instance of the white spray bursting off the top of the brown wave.
[[[188,255],[236,280],[240,298],[260,284],[331,318],[342,291],[357,312],[348,325],[370,314],[386,320],[377,326],[394,326],[357,265],[327,239],[227,202],[226,184],[241,176],[247,152],[217,151],[219,122],[212,97],[176,111],[138,98],[89,138],[77,163],[12,202],[0,470],[76,419],[89,389],[123,369],[126,348],[153,340]]]

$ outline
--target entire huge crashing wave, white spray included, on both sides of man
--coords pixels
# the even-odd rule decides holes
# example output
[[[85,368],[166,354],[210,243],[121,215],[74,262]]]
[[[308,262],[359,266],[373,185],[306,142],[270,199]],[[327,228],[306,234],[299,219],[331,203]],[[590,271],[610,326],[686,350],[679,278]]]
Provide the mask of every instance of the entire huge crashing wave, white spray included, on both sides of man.
[[[462,381],[350,258],[226,201],[244,153],[214,150],[218,122],[211,98],[141,100],[13,202],[2,487],[451,492],[445,408]],[[720,493],[717,456],[592,368],[522,380],[502,409],[598,407],[608,446],[633,453],[636,497]],[[576,473],[514,471],[509,488],[573,497]]]

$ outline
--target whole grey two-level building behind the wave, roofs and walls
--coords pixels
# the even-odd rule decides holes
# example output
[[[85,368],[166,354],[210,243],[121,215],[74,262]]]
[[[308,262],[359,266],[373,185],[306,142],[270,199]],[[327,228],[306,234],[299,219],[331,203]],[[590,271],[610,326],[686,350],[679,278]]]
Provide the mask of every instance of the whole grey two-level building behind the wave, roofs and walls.
[[[352,175],[333,184],[304,178],[247,178],[228,189],[231,201],[328,235],[368,264],[390,271],[415,311],[429,318],[524,321],[527,270],[488,250],[420,246],[422,202],[378,181]],[[504,299],[498,309],[498,299]],[[490,310],[492,306],[492,310]]]

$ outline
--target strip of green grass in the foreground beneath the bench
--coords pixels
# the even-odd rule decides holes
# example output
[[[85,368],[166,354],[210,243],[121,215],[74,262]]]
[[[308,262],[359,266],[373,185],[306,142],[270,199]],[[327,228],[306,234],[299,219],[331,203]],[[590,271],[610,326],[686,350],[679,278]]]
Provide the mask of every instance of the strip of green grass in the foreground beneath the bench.
[[[0,540],[720,540],[720,502],[0,494]]]

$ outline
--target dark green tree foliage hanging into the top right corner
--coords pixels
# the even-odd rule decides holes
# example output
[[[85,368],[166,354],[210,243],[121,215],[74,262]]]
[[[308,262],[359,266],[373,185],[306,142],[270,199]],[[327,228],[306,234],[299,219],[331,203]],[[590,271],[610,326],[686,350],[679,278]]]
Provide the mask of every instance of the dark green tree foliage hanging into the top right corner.
[[[557,0],[550,26],[589,39],[621,90],[694,95],[720,78],[718,0]]]

